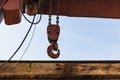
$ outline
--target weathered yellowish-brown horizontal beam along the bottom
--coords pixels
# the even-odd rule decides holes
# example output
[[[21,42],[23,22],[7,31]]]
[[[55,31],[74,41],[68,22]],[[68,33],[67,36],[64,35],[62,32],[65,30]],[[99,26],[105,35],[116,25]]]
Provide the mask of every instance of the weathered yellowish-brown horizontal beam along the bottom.
[[[2,63],[0,63],[2,64]],[[0,78],[120,79],[119,62],[10,62],[0,68]]]

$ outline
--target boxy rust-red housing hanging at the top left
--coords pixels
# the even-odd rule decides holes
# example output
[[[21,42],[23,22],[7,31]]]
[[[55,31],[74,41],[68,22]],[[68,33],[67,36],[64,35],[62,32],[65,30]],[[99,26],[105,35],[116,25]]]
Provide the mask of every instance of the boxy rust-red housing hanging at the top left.
[[[19,0],[8,0],[3,7],[5,24],[12,25],[21,22]]]

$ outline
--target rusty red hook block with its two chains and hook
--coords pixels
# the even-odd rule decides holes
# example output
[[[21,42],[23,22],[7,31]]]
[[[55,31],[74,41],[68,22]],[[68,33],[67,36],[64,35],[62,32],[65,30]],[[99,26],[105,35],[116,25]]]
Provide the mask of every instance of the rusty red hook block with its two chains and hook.
[[[59,0],[56,0],[57,2],[57,17],[56,17],[56,24],[52,24],[51,20],[52,20],[52,0],[50,0],[50,4],[49,4],[49,23],[48,23],[48,27],[47,27],[47,34],[48,34],[48,40],[49,43],[51,44],[50,46],[48,46],[47,52],[48,55],[52,58],[58,58],[60,55],[60,50],[58,49],[58,44],[57,44],[57,40],[60,34],[60,26],[59,26],[59,10],[60,10],[60,2]],[[54,51],[57,51],[57,53],[54,53]]]

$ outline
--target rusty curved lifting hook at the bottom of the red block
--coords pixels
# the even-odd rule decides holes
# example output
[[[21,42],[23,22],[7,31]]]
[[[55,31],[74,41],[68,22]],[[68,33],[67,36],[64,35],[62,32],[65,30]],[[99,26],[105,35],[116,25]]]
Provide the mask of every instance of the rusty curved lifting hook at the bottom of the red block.
[[[58,48],[55,48],[55,46],[56,45],[51,44],[50,46],[48,46],[47,49],[48,55],[54,59],[58,58],[60,55],[60,50]],[[56,51],[56,53],[54,53],[53,51]]]

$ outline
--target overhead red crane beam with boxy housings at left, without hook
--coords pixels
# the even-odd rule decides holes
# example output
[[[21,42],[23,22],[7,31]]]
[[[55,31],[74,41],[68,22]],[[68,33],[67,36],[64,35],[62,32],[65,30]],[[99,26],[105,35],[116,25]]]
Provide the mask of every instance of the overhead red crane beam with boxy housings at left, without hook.
[[[19,4],[20,1],[20,4]],[[21,11],[29,15],[40,13],[37,3],[41,0],[1,0],[0,21],[4,18],[8,25],[21,22]],[[70,17],[120,18],[119,0],[59,0],[59,15]],[[43,0],[42,14],[49,15],[50,0]],[[27,6],[27,7],[26,7]],[[57,1],[52,0],[51,14],[57,14]],[[2,15],[4,14],[4,17]],[[14,14],[14,15],[13,15]]]

